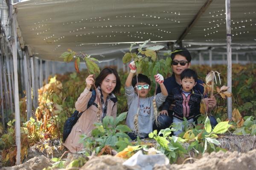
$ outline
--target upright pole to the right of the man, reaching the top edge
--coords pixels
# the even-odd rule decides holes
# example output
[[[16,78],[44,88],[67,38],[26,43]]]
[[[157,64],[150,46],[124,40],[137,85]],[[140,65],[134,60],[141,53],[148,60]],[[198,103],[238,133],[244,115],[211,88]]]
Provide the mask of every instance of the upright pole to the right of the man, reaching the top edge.
[[[231,23],[230,23],[230,0],[226,0],[226,29],[227,29],[227,86],[228,92],[232,92],[232,53],[231,53]],[[227,98],[227,115],[232,119],[232,98]]]

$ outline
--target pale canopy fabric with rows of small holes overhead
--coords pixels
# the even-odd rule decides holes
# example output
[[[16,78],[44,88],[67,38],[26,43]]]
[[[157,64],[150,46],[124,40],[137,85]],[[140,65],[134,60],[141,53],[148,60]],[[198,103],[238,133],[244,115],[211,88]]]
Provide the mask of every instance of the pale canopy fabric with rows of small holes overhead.
[[[68,48],[103,59],[122,57],[125,43],[176,41],[206,1],[27,0],[14,7],[20,43],[39,58],[61,61]],[[256,45],[255,9],[256,0],[231,0],[232,43]],[[225,44],[225,22],[225,1],[212,0],[183,44]]]

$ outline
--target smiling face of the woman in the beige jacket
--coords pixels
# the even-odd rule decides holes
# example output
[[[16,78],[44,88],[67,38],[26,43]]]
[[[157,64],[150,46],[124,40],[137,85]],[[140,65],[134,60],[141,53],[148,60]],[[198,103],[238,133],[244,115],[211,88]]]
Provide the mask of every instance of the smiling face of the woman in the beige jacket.
[[[102,81],[102,83],[100,84],[100,88],[102,89],[103,95],[110,94],[111,92],[113,92],[115,87],[116,87],[116,76],[113,73],[107,75]]]

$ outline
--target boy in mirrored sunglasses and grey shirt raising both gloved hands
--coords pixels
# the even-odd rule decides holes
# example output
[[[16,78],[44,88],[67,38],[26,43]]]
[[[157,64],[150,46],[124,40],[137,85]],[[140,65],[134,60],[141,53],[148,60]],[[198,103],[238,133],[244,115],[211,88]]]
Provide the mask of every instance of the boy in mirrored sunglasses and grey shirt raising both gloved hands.
[[[146,75],[139,74],[137,83],[137,78],[136,76],[134,76],[136,72],[136,66],[134,61],[129,64],[129,67],[131,71],[125,82],[125,95],[128,104],[126,124],[128,127],[131,128],[131,130],[133,130],[133,133],[128,133],[128,135],[130,136],[131,140],[134,140],[137,138],[137,135],[139,135],[140,138],[145,138],[148,136],[148,133],[152,132],[154,117],[154,96],[147,97],[151,85],[151,81],[149,80],[149,78]],[[154,78],[155,81],[159,84],[162,91],[161,93],[158,93],[156,95],[156,104],[158,108],[165,101],[168,92],[166,90],[166,87],[163,85],[163,76],[157,74],[154,76]],[[140,103],[138,100],[138,95],[140,97]],[[137,115],[139,105],[138,103],[140,104],[138,114],[138,132],[135,132],[136,130],[134,127],[134,117]]]

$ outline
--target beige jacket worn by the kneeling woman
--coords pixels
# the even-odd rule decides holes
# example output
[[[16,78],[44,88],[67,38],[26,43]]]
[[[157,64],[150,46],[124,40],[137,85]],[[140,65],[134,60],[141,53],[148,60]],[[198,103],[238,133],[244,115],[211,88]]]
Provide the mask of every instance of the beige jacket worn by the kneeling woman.
[[[81,151],[83,149],[83,144],[79,143],[80,135],[85,133],[87,136],[91,135],[91,131],[94,129],[93,124],[98,120],[97,118],[97,110],[98,108],[94,105],[91,105],[87,109],[88,101],[90,100],[90,97],[92,95],[92,92],[90,92],[87,88],[84,89],[84,92],[81,93],[78,100],[76,101],[75,107],[76,110],[79,112],[82,112],[81,117],[76,122],[76,124],[73,126],[70,134],[68,135],[66,141],[64,142],[64,146],[67,147],[68,150],[72,153],[76,153],[78,151]],[[97,103],[97,95],[95,103]],[[113,101],[108,101],[107,106],[107,113],[108,116],[113,116],[116,118],[116,112],[117,112],[117,102],[114,103]],[[102,113],[100,115],[102,117]]]

